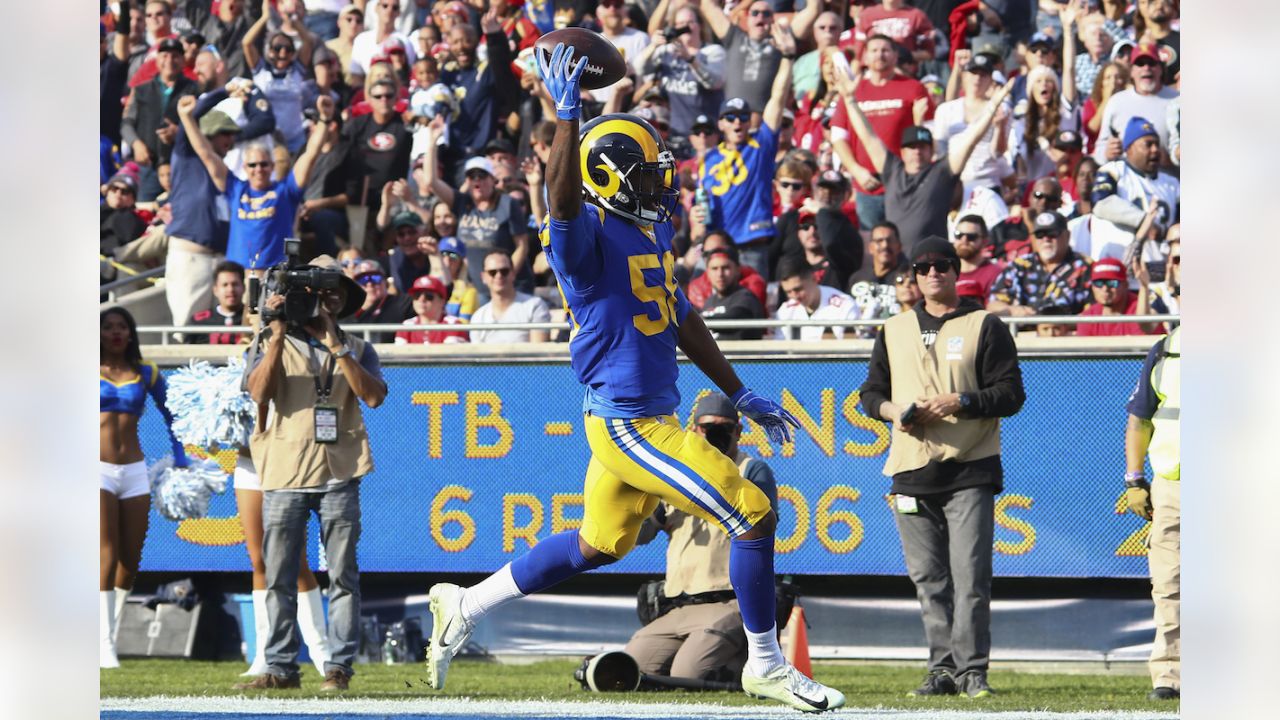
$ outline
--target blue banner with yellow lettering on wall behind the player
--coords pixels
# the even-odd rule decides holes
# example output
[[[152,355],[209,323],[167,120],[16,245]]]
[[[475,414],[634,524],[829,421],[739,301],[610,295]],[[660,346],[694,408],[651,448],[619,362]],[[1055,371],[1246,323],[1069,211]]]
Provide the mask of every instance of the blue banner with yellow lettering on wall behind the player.
[[[744,382],[801,421],[773,447],[753,424],[742,447],[780,484],[778,573],[905,574],[882,474],[888,429],[858,406],[867,363],[739,361]],[[995,571],[1005,577],[1147,575],[1144,523],[1120,510],[1124,404],[1137,359],[1023,360],[1027,405],[1002,425],[1005,492]],[[686,416],[712,383],[682,365]],[[490,571],[582,516],[589,450],[582,391],[567,364],[388,366],[387,402],[365,409],[376,470],[361,483],[365,571]],[[148,461],[168,452],[160,416],[140,428]],[[192,448],[195,451],[195,448]],[[198,452],[198,451],[195,451]],[[218,455],[224,468],[234,454]],[[312,536],[315,536],[312,523]],[[311,561],[316,564],[316,543]],[[664,541],[609,573],[662,573]],[[234,495],[207,518],[152,511],[143,570],[248,570]]]

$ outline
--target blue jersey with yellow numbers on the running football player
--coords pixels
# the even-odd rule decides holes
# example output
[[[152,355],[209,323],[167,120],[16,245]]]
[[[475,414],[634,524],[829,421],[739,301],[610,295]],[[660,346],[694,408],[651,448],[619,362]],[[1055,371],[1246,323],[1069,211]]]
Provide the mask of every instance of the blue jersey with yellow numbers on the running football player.
[[[543,252],[572,332],[570,359],[586,386],[584,411],[653,418],[680,405],[676,334],[689,300],[676,283],[671,223],[636,227],[588,202],[572,220],[548,218]]]

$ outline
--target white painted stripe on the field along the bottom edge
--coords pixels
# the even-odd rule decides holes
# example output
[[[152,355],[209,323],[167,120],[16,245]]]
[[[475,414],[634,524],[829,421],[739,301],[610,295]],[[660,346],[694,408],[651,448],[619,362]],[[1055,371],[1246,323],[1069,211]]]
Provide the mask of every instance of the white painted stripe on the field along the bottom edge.
[[[786,717],[795,710],[777,705],[726,706],[676,702],[570,702],[522,700],[518,702],[468,698],[344,700],[344,698],[255,698],[255,697],[146,697],[102,698],[100,708],[111,712],[204,712],[241,715],[435,715],[442,717],[635,717],[641,720],[700,720],[703,717]],[[1176,712],[1088,711],[980,712],[972,710],[850,708],[842,717],[892,717],[893,720],[1174,720]]]

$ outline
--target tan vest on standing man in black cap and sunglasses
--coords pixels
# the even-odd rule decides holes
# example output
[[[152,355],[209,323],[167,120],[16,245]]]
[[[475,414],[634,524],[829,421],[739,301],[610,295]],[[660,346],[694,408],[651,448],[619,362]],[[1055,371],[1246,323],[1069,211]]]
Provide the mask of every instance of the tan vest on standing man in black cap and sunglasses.
[[[891,400],[906,407],[920,397],[948,392],[977,392],[978,338],[987,316],[978,310],[942,324],[933,347],[920,342],[920,320],[914,311],[884,323],[884,347],[892,378]],[[1000,419],[960,419],[955,415],[904,433],[893,423],[893,438],[884,461],[884,474],[919,470],[931,461],[969,462],[1000,455]]]

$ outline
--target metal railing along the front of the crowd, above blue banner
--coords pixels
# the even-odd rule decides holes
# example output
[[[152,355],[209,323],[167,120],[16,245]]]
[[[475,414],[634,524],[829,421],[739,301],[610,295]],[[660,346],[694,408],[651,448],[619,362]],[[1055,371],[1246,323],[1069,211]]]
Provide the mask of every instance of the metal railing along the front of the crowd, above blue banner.
[[[104,288],[108,286],[102,286]],[[1055,324],[1055,325],[1085,325],[1085,324],[1111,324],[1111,323],[1181,323],[1179,315],[1029,315],[1025,318],[1001,318],[1005,324],[1014,328],[1021,325]],[[777,320],[777,319],[751,319],[751,320],[707,320],[707,327],[713,331],[736,331],[751,328],[878,328],[884,324],[883,319],[876,320]],[[342,329],[349,333],[358,333],[369,341],[374,333],[394,333],[399,331],[451,331],[451,332],[489,332],[489,331],[559,331],[566,323],[485,323],[485,324],[430,324],[430,325],[393,325],[379,323],[342,323]],[[255,328],[248,325],[142,325],[138,333],[159,334],[161,345],[173,342],[173,333],[214,334],[214,333],[252,333]],[[767,338],[768,340],[768,338]]]

